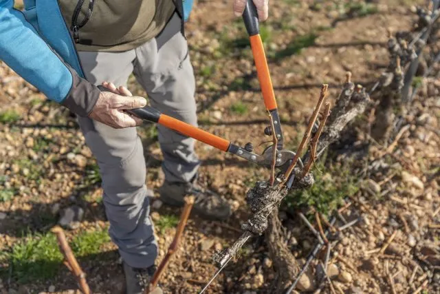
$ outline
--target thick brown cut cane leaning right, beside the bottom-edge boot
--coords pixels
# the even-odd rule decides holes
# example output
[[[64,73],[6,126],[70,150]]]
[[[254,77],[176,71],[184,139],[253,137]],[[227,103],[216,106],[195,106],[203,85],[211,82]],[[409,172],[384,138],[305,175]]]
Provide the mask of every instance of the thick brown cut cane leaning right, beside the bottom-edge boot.
[[[145,294],[150,293],[150,291],[153,291],[156,288],[157,284],[159,283],[160,276],[166,269],[166,266],[168,266],[168,263],[170,262],[170,259],[173,257],[174,253],[177,251],[181,235],[184,233],[186,222],[188,222],[188,217],[190,216],[192,204],[194,204],[195,198],[194,196],[187,196],[184,200],[185,206],[181,211],[179,224],[177,224],[177,230],[174,235],[173,242],[171,242],[170,246],[168,247],[168,252],[166,252],[164,259],[162,262],[160,262],[159,266],[157,266],[157,271],[153,275],[153,279],[151,279],[150,286],[146,287],[144,291]]]

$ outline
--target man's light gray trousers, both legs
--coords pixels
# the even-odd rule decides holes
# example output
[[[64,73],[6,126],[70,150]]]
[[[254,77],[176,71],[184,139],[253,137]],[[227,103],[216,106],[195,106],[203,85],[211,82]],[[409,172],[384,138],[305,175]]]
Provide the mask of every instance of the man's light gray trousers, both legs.
[[[195,78],[180,28],[175,14],[161,34],[135,50],[79,52],[87,80],[96,85],[108,81],[118,87],[126,85],[133,72],[151,106],[197,125]],[[127,264],[151,266],[157,256],[157,243],[148,217],[146,166],[135,127],[113,129],[84,117],[78,117],[78,123],[100,168],[111,239]],[[157,129],[165,180],[190,181],[199,167],[194,140],[165,127]]]

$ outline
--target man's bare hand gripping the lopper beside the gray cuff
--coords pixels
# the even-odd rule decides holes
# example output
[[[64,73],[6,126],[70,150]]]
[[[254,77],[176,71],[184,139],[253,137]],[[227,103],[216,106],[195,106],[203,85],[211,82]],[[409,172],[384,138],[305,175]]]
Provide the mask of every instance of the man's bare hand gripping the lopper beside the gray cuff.
[[[115,87],[113,83],[102,83],[102,87],[111,92],[101,92],[89,118],[114,127],[135,127],[142,124],[142,119],[124,112],[124,109],[134,109],[146,105],[145,98],[134,96],[126,87]]]

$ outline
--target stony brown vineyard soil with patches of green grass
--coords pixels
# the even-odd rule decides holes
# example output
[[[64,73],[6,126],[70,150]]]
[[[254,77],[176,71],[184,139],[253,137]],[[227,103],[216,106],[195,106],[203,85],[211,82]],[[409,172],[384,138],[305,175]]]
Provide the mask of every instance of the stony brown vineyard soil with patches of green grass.
[[[296,147],[320,84],[329,83],[334,98],[349,70],[357,83],[371,87],[388,61],[387,29],[408,30],[415,19],[410,12],[413,1],[370,2],[271,3],[271,18],[262,25],[261,34],[288,148]],[[230,1],[199,0],[187,31],[201,127],[239,145],[260,145],[267,140],[263,134],[267,116],[243,25],[232,18]],[[145,95],[134,78],[129,85]],[[391,284],[396,293],[411,293],[428,280],[429,293],[440,292],[439,90],[438,78],[425,81],[405,117],[408,127],[393,149],[359,132],[350,146],[362,153],[362,146],[369,143],[362,162],[347,159],[347,154],[329,155],[332,167],[325,167],[310,193],[333,191],[331,186],[338,182],[342,185],[338,189],[347,192],[338,197],[352,203],[342,215],[347,221],[362,217],[341,232],[332,250],[329,275],[339,293],[392,293]],[[50,233],[61,221],[69,227],[67,238],[94,292],[120,293],[122,269],[106,233],[98,168],[75,119],[45,101],[4,63],[0,63],[0,103],[0,291],[75,292],[74,277],[63,266]],[[162,175],[155,127],[140,127],[140,136],[148,185],[157,189]],[[162,281],[166,293],[197,293],[209,280],[216,270],[212,253],[231,244],[241,232],[239,224],[248,217],[245,192],[252,182],[269,176],[265,169],[201,143],[197,152],[203,160],[201,181],[228,198],[234,215],[222,223],[191,216]],[[365,158],[366,168],[358,176]],[[157,193],[152,197],[160,260],[180,211],[162,205],[155,199]],[[303,262],[316,241],[287,204],[292,200],[281,213],[291,229],[289,245]],[[314,291],[316,276],[313,266],[298,291]],[[275,278],[263,239],[257,238],[217,277],[208,293],[270,293]],[[330,293],[329,288],[323,291]]]

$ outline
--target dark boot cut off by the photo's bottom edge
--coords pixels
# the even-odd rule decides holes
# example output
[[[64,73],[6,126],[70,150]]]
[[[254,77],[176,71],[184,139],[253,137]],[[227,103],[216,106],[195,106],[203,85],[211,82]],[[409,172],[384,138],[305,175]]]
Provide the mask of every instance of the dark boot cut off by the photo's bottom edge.
[[[125,262],[124,274],[126,282],[126,294],[142,294],[146,287],[150,285],[151,278],[153,277],[156,266],[150,266],[147,269],[135,269]],[[151,294],[163,294],[160,287],[153,289]]]

